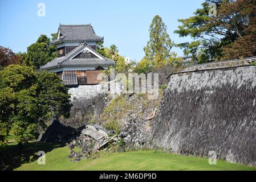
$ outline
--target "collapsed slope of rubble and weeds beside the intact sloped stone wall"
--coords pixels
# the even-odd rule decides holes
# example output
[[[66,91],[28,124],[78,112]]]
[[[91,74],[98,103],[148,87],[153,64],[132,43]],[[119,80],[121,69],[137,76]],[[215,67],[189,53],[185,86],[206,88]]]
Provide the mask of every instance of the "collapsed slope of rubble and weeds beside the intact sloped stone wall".
[[[119,138],[128,148],[148,148],[152,138],[152,118],[159,100],[149,100],[146,94],[123,94],[105,107],[110,113],[103,113],[102,125],[113,120],[120,126]]]

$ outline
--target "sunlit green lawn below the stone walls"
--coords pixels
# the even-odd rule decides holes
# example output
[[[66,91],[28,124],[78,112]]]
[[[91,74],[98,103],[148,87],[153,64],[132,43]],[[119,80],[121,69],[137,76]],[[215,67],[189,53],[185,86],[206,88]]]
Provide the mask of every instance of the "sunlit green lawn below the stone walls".
[[[37,149],[39,150],[38,147]],[[77,163],[71,163],[70,159],[67,159],[68,155],[67,147],[53,148],[46,153],[46,165],[39,165],[34,160],[15,170],[256,170],[224,161],[217,161],[217,165],[209,165],[208,159],[156,151],[105,154],[95,160],[82,160]]]

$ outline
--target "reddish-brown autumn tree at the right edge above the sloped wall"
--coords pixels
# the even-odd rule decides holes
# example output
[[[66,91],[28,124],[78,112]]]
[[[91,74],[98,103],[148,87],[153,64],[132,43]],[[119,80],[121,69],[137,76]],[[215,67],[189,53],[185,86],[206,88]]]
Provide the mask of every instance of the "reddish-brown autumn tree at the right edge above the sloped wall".
[[[230,26],[237,36],[229,45],[222,48],[224,59],[256,56],[256,2],[240,0],[235,3],[224,3],[221,14],[234,16]]]

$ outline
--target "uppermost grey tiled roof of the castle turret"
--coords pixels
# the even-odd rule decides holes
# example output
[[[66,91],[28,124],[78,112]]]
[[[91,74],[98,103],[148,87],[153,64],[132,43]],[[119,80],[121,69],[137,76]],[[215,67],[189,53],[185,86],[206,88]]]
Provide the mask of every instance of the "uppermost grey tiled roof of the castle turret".
[[[100,42],[103,37],[95,34],[91,24],[60,24],[60,38],[55,39],[51,44],[60,42]]]

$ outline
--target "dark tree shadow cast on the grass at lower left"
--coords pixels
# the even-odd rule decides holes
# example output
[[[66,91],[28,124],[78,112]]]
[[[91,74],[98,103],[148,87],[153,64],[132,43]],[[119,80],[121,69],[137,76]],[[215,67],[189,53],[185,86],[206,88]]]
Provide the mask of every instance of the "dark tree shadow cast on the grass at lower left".
[[[11,171],[20,167],[22,164],[34,162],[39,158],[39,151],[50,152],[55,148],[63,147],[63,143],[43,143],[32,142],[20,147],[17,144],[11,143],[1,151],[1,160],[5,164],[0,170]]]

